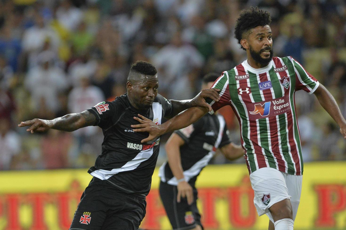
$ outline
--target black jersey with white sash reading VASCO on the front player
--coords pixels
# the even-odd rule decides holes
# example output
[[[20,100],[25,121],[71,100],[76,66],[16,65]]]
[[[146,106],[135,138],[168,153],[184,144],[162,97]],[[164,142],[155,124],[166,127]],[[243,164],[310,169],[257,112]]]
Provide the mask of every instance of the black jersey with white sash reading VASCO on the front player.
[[[97,118],[94,126],[102,128],[104,139],[102,153],[89,173],[126,193],[146,196],[151,186],[159,152],[160,137],[150,143],[140,143],[147,138],[147,132],[134,132],[131,124],[138,124],[133,117],[141,114],[157,124],[172,112],[169,100],[157,94],[147,111],[139,111],[131,106],[127,94],[114,101],[101,102],[88,109]]]

